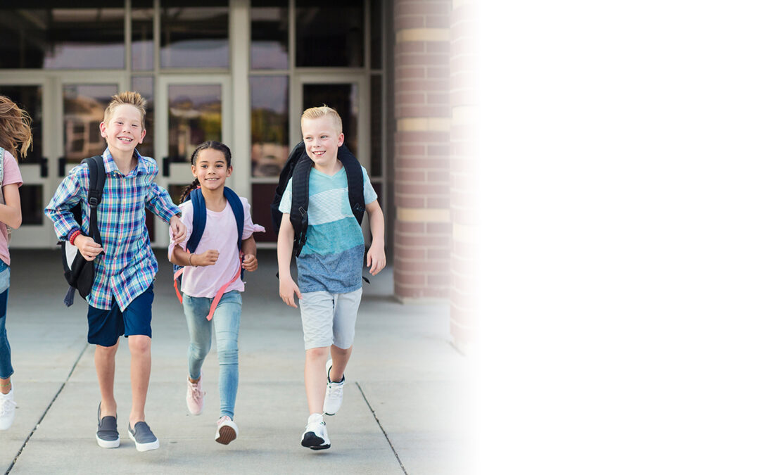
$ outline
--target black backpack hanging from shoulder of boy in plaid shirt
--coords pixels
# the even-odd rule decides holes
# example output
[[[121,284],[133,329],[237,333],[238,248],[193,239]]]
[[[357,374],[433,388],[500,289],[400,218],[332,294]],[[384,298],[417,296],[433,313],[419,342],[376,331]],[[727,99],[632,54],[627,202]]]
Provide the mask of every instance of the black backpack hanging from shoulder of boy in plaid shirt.
[[[97,225],[97,206],[103,198],[103,187],[106,185],[106,167],[103,165],[103,157],[100,155],[85,158],[82,163],[86,163],[87,168],[90,169],[90,188],[87,191],[87,205],[90,206],[90,235],[95,242],[103,245],[103,242],[100,241],[100,230]],[[74,220],[81,226],[81,202],[71,208],[71,212],[74,214]],[[82,230],[82,234],[87,236],[84,230]],[[87,296],[90,295],[93,280],[95,280],[95,261],[87,261],[77,246],[68,242],[68,239],[59,242],[59,245],[61,245],[63,260],[63,277],[69,285],[63,302],[68,307],[74,303],[74,290],[78,290],[83,299],[87,299]]]

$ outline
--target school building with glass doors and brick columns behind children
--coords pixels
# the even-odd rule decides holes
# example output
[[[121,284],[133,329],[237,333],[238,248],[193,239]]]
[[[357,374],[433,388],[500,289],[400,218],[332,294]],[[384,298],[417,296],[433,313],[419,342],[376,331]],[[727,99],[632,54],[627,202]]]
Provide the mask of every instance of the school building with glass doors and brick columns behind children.
[[[386,218],[394,293],[447,299],[451,337],[473,338],[470,168],[477,0],[24,0],[0,2],[0,93],[33,118],[21,163],[24,223],[12,248],[49,248],[43,207],[65,173],[100,154],[109,97],[148,100],[138,146],[178,198],[197,144],[233,151],[230,185],[268,228],[303,109],[326,103],[366,167]],[[366,227],[365,220],[365,227]],[[147,218],[153,245],[168,244]]]

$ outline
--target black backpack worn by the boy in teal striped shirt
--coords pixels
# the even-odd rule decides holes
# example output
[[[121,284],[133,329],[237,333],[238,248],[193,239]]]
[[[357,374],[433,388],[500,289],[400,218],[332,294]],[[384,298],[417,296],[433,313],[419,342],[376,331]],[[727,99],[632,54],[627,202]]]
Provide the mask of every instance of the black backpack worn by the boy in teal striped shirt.
[[[364,217],[364,176],[359,160],[353,156],[348,147],[341,145],[337,149],[337,159],[343,163],[346,169],[348,182],[348,202],[351,205],[353,216],[359,225]],[[271,204],[272,225],[276,233],[280,232],[280,223],[283,214],[280,212],[280,201],[287,188],[287,182],[293,177],[293,199],[290,204],[290,223],[293,224],[293,252],[301,254],[303,245],[306,244],[306,228],[309,226],[309,173],[312,171],[312,159],[306,154],[306,145],[301,141],[287,157],[285,166],[280,172],[280,182],[274,190],[274,201]]]

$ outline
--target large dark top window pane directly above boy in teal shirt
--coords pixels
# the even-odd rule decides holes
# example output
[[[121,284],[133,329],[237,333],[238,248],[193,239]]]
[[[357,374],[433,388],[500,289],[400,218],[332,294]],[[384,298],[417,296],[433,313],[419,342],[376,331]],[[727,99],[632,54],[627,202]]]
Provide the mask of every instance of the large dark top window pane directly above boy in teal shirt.
[[[363,65],[363,0],[296,1],[296,66]]]

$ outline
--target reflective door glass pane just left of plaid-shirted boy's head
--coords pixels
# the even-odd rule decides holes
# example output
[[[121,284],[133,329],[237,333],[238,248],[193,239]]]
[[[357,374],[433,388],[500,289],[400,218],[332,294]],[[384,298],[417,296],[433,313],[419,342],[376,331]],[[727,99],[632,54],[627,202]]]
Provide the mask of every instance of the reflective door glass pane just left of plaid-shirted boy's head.
[[[63,144],[68,162],[100,155],[106,139],[93,138],[90,130],[100,127],[103,111],[118,92],[116,84],[65,84],[63,87]]]

